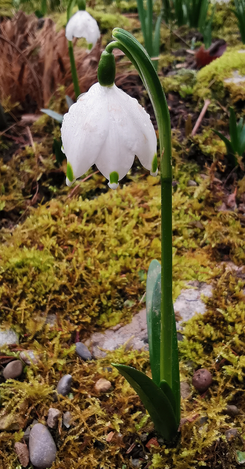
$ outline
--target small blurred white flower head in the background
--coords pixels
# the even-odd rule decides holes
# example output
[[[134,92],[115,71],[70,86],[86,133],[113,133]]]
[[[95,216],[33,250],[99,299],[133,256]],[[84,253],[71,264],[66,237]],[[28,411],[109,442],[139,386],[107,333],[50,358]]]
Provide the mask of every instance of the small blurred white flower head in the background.
[[[79,10],[67,23],[66,37],[68,41],[73,38],[85,38],[88,44],[94,46],[100,38],[100,30],[93,16],[86,10]]]

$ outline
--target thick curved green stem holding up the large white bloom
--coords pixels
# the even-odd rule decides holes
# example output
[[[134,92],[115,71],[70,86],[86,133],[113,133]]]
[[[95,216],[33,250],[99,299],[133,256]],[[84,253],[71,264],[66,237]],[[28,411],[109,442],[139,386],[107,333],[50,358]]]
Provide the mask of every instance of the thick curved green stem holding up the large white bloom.
[[[160,378],[172,387],[172,162],[171,123],[162,85],[148,53],[127,31],[115,28],[112,42],[106,47],[112,51],[119,47],[132,61],[146,87],[159,130],[161,155],[161,343]]]

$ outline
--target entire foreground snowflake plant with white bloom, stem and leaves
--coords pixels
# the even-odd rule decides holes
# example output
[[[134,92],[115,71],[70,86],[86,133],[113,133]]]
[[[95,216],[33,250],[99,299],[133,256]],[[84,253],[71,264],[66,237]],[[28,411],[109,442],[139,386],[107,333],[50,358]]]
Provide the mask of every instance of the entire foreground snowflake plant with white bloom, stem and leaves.
[[[135,154],[157,175],[156,133],[146,111],[115,83],[113,48],[121,49],[148,91],[159,131],[161,180],[161,265],[148,268],[146,311],[152,379],[137,369],[112,363],[147,408],[156,431],[174,441],[180,420],[178,342],[172,305],[172,168],[171,125],[167,101],[148,53],[127,31],[115,28],[98,66],[98,83],[81,95],[65,114],[61,139],[67,156],[70,186],[94,163],[116,189]]]

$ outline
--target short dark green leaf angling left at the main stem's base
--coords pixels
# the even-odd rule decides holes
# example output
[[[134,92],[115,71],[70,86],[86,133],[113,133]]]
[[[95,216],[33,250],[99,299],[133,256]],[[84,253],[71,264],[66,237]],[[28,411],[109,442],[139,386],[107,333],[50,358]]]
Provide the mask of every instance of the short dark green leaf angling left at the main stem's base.
[[[167,441],[172,441],[178,432],[178,424],[173,408],[166,394],[156,386],[154,381],[141,371],[130,366],[117,365],[118,371],[134,388],[155,425],[156,431]]]

